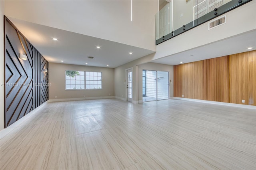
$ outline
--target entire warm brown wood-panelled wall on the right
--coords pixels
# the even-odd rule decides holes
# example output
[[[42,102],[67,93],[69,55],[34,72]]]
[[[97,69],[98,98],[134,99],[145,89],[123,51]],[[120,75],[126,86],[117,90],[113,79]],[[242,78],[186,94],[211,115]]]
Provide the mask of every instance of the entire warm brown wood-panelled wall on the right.
[[[256,50],[174,65],[174,97],[182,95],[256,105]]]

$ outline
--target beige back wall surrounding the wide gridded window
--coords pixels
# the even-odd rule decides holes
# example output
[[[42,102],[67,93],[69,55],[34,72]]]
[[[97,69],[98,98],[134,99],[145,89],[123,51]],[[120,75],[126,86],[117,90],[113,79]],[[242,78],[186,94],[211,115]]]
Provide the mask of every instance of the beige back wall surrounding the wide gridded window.
[[[95,71],[102,72],[102,89],[100,90],[65,90],[65,71]],[[87,97],[114,96],[114,69],[49,63],[49,99],[71,99]],[[109,95],[110,93],[110,95]],[[57,98],[55,98],[57,96]]]

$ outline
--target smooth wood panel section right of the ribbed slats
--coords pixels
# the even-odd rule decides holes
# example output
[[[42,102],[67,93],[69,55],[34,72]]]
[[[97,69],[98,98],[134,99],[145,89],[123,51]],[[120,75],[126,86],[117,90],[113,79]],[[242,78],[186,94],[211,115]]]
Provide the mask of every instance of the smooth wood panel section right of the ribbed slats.
[[[230,103],[256,105],[256,50],[230,55]]]

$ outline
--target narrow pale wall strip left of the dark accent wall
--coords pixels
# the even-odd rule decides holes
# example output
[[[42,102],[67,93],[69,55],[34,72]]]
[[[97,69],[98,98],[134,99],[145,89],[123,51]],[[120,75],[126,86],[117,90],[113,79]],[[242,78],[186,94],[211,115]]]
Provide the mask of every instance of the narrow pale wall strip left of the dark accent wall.
[[[4,128],[4,1],[0,1],[0,130]]]

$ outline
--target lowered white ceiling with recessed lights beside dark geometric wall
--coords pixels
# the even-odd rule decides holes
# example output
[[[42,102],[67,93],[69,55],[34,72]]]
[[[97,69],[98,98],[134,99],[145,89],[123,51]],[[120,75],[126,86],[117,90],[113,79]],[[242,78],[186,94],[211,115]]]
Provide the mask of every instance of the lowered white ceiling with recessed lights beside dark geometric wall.
[[[34,24],[8,17],[22,34],[40,51],[47,61],[53,63],[106,67],[118,67],[155,51],[134,47]],[[54,41],[53,38],[57,38]],[[97,46],[100,46],[98,49]],[[132,52],[132,54],[129,54]],[[88,56],[94,59],[88,59]]]

